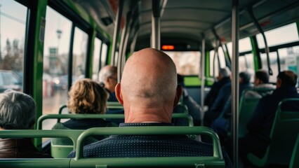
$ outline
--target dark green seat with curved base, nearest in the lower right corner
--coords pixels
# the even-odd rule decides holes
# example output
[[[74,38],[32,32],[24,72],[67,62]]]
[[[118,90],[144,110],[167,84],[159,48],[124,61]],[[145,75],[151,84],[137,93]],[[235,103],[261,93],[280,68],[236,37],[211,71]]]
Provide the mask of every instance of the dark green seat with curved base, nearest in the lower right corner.
[[[291,160],[295,140],[299,132],[299,111],[284,110],[281,106],[290,107],[291,103],[298,104],[299,99],[283,99],[279,102],[272,130],[270,132],[271,143],[263,158],[249,153],[248,160],[258,167],[266,165],[288,165]]]

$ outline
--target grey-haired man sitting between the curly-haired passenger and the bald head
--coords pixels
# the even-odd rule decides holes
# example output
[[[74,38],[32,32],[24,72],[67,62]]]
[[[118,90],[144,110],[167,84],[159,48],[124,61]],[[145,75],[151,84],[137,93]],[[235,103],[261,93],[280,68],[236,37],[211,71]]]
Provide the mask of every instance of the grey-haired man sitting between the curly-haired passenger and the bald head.
[[[108,102],[118,102],[115,96],[115,86],[117,85],[117,67],[106,65],[102,67],[99,73],[99,82],[104,85],[105,90],[109,93]],[[107,114],[124,114],[122,109],[107,109]],[[119,125],[124,123],[124,119],[107,119]]]

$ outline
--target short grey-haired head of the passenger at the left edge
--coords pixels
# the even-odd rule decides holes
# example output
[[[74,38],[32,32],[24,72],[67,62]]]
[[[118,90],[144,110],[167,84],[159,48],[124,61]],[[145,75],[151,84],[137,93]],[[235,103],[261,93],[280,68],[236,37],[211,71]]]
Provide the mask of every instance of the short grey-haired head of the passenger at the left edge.
[[[13,90],[0,94],[0,130],[28,130],[35,123],[36,105],[29,95]]]

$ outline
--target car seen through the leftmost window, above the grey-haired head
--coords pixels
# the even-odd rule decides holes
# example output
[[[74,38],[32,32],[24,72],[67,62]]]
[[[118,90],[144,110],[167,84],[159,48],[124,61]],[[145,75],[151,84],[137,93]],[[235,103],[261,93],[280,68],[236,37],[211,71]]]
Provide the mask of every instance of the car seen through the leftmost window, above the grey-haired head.
[[[8,89],[22,91],[22,80],[13,71],[0,70],[0,92]]]

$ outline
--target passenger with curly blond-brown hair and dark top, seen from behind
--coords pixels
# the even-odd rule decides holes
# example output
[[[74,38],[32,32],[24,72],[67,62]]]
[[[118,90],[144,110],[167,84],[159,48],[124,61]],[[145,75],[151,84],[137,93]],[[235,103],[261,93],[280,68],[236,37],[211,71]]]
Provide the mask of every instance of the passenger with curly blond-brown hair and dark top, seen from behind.
[[[69,90],[67,109],[73,114],[103,114],[106,112],[107,92],[97,82],[84,78],[77,80]],[[52,130],[86,130],[91,127],[117,127],[116,124],[101,118],[70,119],[65,123],[57,123]],[[103,139],[89,139],[91,143]],[[72,145],[70,139],[52,139],[55,145]]]

